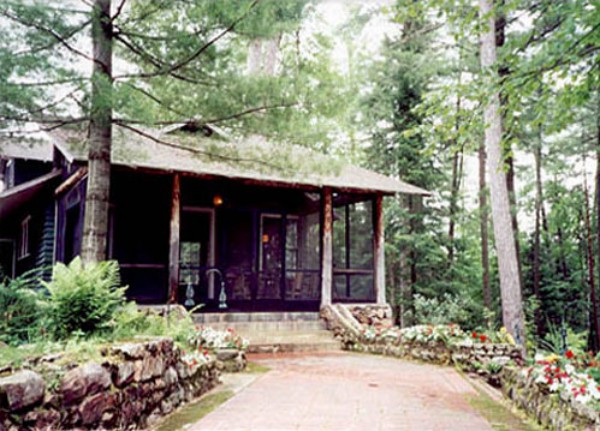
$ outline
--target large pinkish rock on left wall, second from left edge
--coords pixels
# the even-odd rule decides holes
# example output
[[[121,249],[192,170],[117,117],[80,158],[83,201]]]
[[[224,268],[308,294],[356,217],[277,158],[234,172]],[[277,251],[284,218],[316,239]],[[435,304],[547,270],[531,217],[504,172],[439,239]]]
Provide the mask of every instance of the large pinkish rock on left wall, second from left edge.
[[[93,395],[110,386],[109,372],[102,366],[90,362],[67,372],[61,382],[63,402],[69,406],[86,395]]]

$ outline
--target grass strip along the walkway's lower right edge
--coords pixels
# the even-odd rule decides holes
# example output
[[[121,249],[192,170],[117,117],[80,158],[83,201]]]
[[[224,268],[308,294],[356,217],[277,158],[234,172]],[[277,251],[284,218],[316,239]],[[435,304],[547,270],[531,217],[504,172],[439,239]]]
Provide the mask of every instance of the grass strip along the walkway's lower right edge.
[[[473,385],[477,395],[468,397],[468,402],[475,410],[498,431],[540,431],[538,425],[513,413],[504,404],[493,400],[488,394]]]

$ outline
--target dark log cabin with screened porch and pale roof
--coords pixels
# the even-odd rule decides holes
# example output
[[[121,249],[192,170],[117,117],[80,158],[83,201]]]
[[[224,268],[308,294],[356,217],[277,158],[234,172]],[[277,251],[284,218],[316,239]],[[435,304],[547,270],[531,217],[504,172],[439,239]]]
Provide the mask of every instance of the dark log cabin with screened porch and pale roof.
[[[80,252],[86,134],[0,142],[0,271]],[[385,303],[382,200],[426,195],[397,179],[194,122],[114,126],[108,256],[141,304],[318,310]]]

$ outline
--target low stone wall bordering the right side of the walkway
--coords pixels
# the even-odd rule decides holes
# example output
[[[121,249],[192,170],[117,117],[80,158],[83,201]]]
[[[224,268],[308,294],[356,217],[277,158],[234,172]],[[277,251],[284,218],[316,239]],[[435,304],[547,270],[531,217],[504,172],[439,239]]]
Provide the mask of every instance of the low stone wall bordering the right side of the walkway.
[[[441,342],[407,343],[401,340],[369,340],[361,332],[356,311],[336,304],[321,310],[327,326],[351,351],[417,359],[441,365],[455,365],[476,373],[534,417],[539,424],[555,431],[598,431],[599,412],[592,407],[573,403],[558,394],[548,393],[524,374],[521,350],[510,344],[464,342],[446,345]]]

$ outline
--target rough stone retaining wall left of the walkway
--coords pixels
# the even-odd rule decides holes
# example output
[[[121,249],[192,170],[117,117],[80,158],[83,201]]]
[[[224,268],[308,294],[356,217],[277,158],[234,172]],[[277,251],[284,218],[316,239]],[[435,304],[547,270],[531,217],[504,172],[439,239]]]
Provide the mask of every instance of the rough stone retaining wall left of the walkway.
[[[200,362],[167,338],[108,347],[85,364],[41,358],[0,375],[0,431],[145,428],[219,383],[217,361]]]

